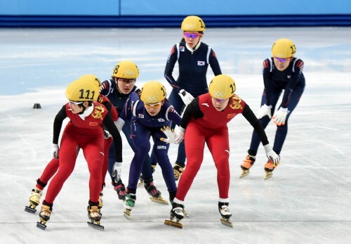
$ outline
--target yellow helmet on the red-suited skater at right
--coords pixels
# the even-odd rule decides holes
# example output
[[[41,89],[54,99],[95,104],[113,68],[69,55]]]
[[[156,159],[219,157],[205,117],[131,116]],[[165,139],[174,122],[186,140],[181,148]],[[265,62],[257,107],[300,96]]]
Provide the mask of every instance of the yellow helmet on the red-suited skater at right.
[[[208,90],[211,97],[218,99],[227,99],[234,95],[236,86],[234,79],[228,75],[217,75],[211,82]]]

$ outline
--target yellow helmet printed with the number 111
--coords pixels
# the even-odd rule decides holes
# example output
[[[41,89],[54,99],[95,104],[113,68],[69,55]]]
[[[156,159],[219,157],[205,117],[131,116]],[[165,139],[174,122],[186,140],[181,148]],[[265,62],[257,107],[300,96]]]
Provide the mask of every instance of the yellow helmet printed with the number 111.
[[[94,101],[99,94],[98,86],[86,77],[75,80],[66,89],[66,97],[74,102]]]

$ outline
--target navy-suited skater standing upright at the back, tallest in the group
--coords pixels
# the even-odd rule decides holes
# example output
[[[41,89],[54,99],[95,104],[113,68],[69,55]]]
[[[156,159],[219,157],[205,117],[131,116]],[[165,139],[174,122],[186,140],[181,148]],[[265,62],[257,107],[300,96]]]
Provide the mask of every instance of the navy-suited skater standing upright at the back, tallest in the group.
[[[168,100],[179,115],[194,97],[208,92],[206,80],[208,65],[211,66],[215,76],[222,74],[215,51],[201,42],[206,29],[204,20],[198,16],[187,16],[180,28],[183,30],[183,39],[172,47],[164,70],[164,77],[172,86]],[[175,79],[173,69],[177,61],[179,75]],[[172,124],[172,128],[174,127],[175,124]],[[184,142],[182,142],[179,144],[178,157],[173,167],[176,180],[183,173],[185,158]]]

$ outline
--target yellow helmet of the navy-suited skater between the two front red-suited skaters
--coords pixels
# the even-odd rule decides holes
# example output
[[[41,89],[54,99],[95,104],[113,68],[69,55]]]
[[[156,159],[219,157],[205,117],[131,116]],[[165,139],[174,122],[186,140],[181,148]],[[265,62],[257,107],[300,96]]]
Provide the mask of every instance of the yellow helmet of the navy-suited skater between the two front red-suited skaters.
[[[166,96],[166,88],[158,81],[145,83],[140,91],[140,99],[144,103],[159,103],[163,101]]]

